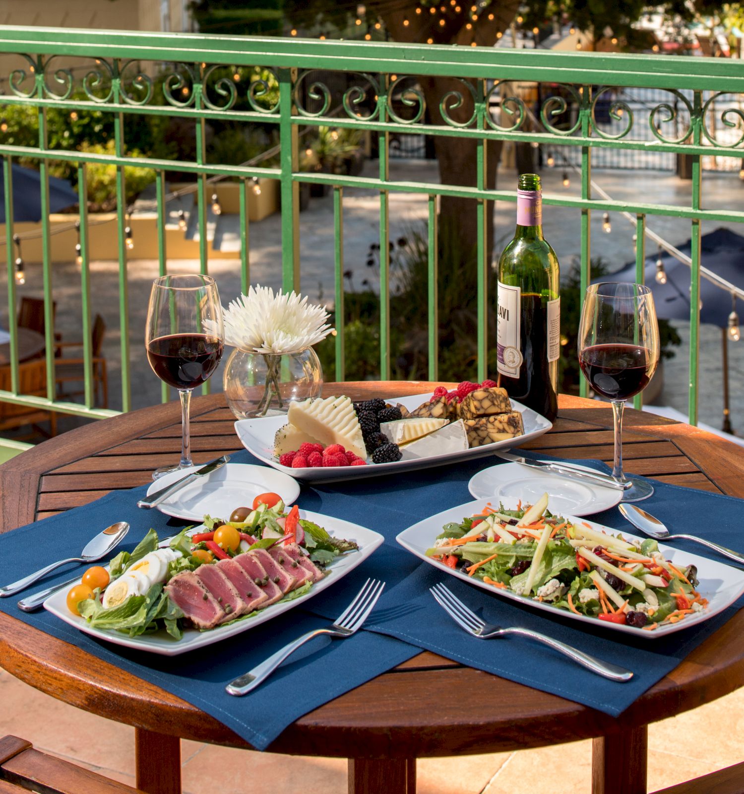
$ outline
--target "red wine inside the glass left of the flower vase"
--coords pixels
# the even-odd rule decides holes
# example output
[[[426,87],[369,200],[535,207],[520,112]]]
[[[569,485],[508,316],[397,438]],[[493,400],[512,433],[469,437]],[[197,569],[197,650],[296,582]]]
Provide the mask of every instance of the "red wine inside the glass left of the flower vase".
[[[222,357],[223,345],[205,333],[171,333],[148,343],[152,371],[175,389],[193,389],[209,379]]]

